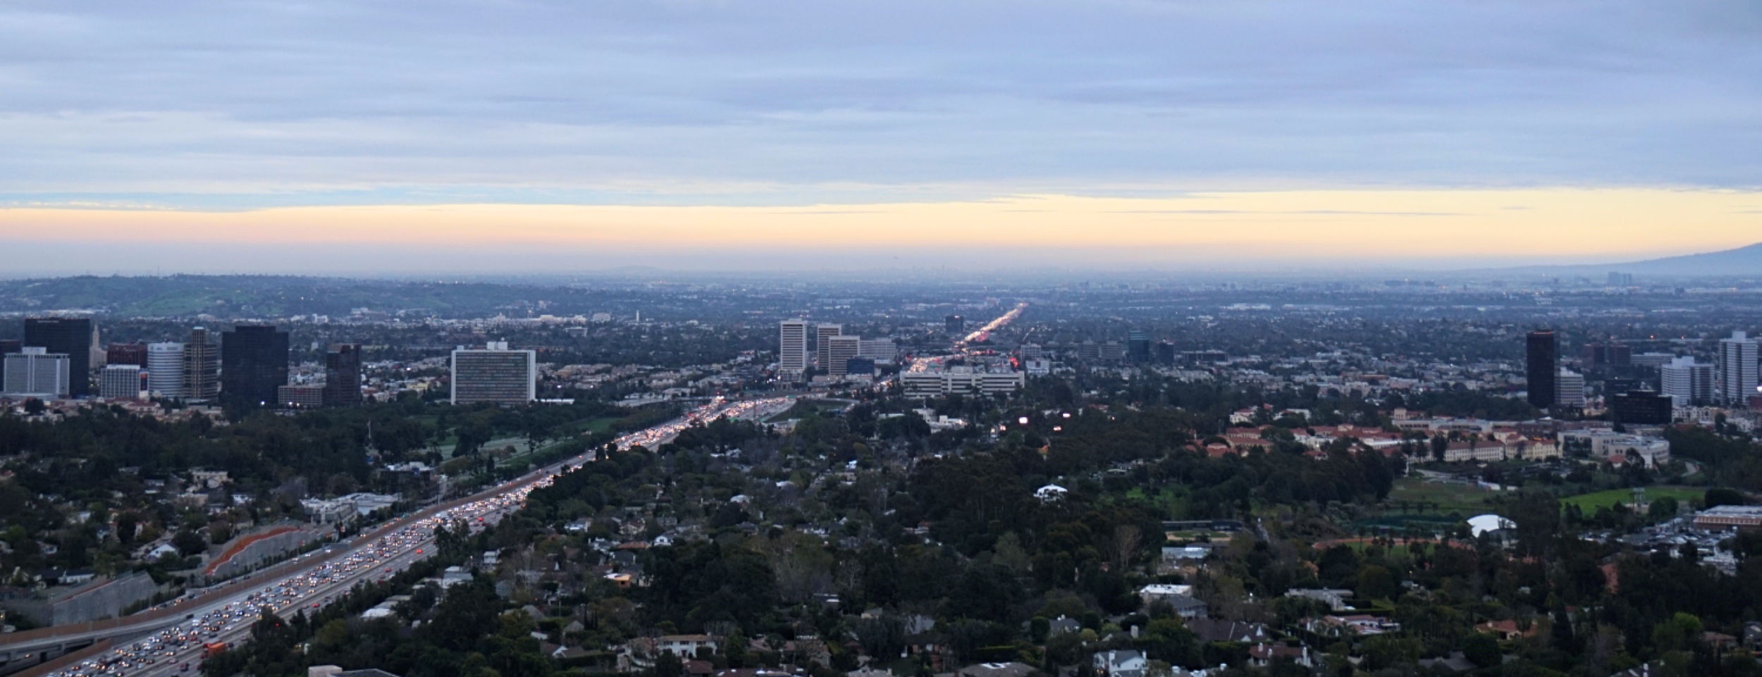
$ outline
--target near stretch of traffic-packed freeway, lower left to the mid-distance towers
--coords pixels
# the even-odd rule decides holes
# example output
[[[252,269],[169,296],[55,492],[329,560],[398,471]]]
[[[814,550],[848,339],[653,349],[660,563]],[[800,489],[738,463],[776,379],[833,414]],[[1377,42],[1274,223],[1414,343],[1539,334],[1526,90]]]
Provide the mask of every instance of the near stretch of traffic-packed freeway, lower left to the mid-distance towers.
[[[694,423],[707,423],[719,416],[763,420],[793,404],[793,397],[737,402],[717,398],[685,416],[626,434],[617,439],[617,446],[654,448],[671,441]],[[9,663],[16,663],[19,654],[42,651],[42,647],[113,640],[116,647],[113,651],[86,656],[76,665],[55,665],[67,663],[67,659],[51,661],[33,672],[46,677],[167,677],[194,672],[210,652],[247,638],[252,622],[264,608],[284,617],[298,610],[310,614],[322,608],[356,584],[384,580],[432,557],[435,527],[463,522],[472,531],[486,529],[518,510],[527,494],[548,485],[564,467],[594,458],[594,451],[587,451],[559,460],[486,492],[393,520],[349,543],[337,543],[301,555],[294,562],[203,591],[169,608],[107,624],[0,635],[0,651],[7,652]]]

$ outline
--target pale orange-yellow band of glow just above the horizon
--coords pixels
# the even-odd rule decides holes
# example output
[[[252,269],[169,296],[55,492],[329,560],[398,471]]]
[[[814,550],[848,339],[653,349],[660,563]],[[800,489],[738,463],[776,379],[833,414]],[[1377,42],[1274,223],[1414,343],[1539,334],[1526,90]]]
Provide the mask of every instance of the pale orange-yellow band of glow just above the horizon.
[[[1235,257],[1621,256],[1762,240],[1762,194],[1667,189],[1011,196],[821,206],[0,208],[0,242],[546,249],[1015,247]]]

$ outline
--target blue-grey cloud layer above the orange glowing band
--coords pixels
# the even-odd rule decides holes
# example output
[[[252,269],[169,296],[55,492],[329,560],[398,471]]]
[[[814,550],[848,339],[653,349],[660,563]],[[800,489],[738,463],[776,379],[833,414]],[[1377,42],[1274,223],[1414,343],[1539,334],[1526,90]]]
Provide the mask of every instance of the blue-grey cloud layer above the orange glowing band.
[[[0,201],[1762,185],[1720,2],[14,2]]]

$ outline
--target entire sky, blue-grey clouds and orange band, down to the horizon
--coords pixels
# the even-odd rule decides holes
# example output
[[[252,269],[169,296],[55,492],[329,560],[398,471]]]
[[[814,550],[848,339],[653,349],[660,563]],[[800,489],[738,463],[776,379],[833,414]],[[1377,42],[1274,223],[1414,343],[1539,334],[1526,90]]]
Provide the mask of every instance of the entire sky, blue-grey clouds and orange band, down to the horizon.
[[[9,2],[0,275],[1762,242],[1762,5]]]

